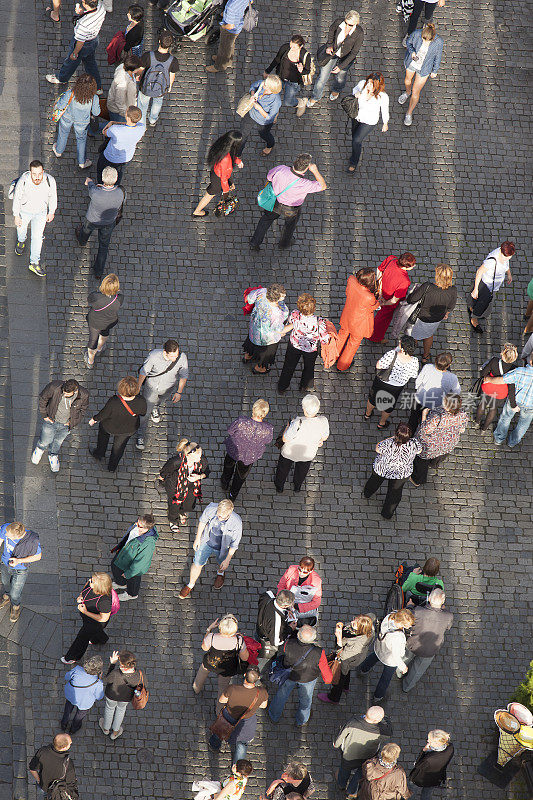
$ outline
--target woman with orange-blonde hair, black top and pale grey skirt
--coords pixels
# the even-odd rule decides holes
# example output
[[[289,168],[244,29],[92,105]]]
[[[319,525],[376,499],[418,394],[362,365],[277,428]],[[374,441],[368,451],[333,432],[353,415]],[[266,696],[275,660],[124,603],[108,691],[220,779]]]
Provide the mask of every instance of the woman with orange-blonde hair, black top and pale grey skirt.
[[[418,318],[410,335],[415,341],[423,342],[422,364],[429,361],[433,336],[441,322],[448,319],[457,303],[457,286],[453,286],[453,270],[448,264],[437,264],[435,282],[425,281],[409,294],[406,302],[419,304]]]

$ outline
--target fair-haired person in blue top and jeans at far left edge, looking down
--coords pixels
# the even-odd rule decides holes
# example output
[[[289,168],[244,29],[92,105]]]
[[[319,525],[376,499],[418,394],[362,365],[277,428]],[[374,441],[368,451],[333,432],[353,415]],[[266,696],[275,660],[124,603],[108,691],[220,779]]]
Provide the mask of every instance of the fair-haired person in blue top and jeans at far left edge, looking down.
[[[41,544],[34,531],[22,522],[9,522],[0,527],[0,542],[3,542],[0,571],[4,595],[0,609],[11,603],[9,619],[16,622],[20,617],[20,598],[28,579],[28,564],[41,560]]]

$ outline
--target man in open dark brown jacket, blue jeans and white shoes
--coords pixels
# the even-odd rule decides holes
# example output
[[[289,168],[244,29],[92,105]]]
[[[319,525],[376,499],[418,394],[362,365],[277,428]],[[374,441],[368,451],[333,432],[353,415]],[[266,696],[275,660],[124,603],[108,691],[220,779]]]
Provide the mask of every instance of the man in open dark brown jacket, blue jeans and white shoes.
[[[59,448],[70,431],[80,424],[89,405],[89,392],[78,381],[47,383],[39,395],[39,413],[44,417],[39,441],[31,454],[31,463],[38,464],[48,448],[52,472],[59,472]]]

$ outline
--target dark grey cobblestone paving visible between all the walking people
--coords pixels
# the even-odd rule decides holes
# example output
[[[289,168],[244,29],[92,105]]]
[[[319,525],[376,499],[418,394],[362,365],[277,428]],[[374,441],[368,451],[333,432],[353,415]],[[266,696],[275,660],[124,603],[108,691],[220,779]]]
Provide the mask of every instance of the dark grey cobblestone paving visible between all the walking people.
[[[104,46],[123,25],[127,5],[126,0],[117,3],[101,36],[105,88],[112,71],[104,66]],[[115,743],[102,737],[93,709],[73,748],[81,797],[190,797],[195,778],[227,773],[226,753],[214,757],[207,749],[213,685],[201,698],[191,688],[201,634],[224,611],[236,612],[242,630],[253,633],[260,591],[274,588],[285,566],[309,553],[325,584],[319,633],[326,646],[337,619],[380,610],[400,560],[429,555],[441,559],[456,622],[416,692],[407,698],[397,682],[392,685],[386,708],[394,738],[402,746],[401,762],[408,767],[427,730],[442,727],[451,731],[456,745],[450,787],[444,793],[450,800],[524,798],[520,785],[498,790],[476,769],[496,742],[493,710],[507,703],[531,657],[524,613],[531,574],[531,434],[511,451],[496,449],[489,434],[469,429],[438,478],[425,489],[408,486],[396,518],[383,521],[376,498],[361,499],[380,439],[374,424],[363,423],[362,413],[381,347],[366,342],[343,375],[318,369],[317,392],[332,435],[311,469],[307,491],[276,495],[272,473],[277,453],[271,449],[254,467],[239,498],[244,537],[226,586],[216,595],[211,592],[209,566],[192,598],[186,603],[177,599],[188,573],[197,517],[193,515],[179,535],[166,523],[156,475],[174,443],[187,435],[202,444],[213,468],[204,497],[218,499],[228,423],[240,411],[248,412],[261,396],[271,402],[276,430],[298,409],[295,390],[283,398],[276,395],[277,369],[257,379],[241,364],[246,324],[240,305],[247,286],[282,282],[291,307],[300,291],[310,290],[319,312],[338,322],[346,276],[354,267],[374,266],[389,253],[409,249],[417,256],[416,278],[425,279],[436,263],[449,262],[460,300],[453,318],[439,330],[434,352],[452,350],[453,369],[468,388],[477,366],[498,352],[501,342],[519,341],[530,278],[525,2],[513,6],[512,15],[501,0],[456,0],[437,9],[445,58],[438,78],[427,84],[409,130],[396,102],[402,90],[403,31],[394,5],[384,0],[356,4],[366,38],[349,87],[381,69],[392,109],[389,132],[374,131],[366,140],[356,179],[345,173],[346,117],[326,95],[300,120],[282,111],[275,128],[276,149],[267,159],[260,155],[260,140],[252,138],[244,154],[245,169],[236,176],[241,205],[234,216],[192,220],[190,212],[206,185],[206,148],[235,124],[232,110],[243,90],[262,73],[287,34],[297,31],[310,37],[315,50],[331,19],[345,10],[339,3],[314,0],[269,7],[259,0],[258,7],[259,28],[239,38],[236,69],[227,75],[207,79],[203,64],[210,62],[212,50],[202,44],[186,43],[179,54],[181,72],[172,97],[126,173],[129,200],[108,262],[123,282],[124,312],[111,346],[87,373],[82,350],[94,242],[82,251],[73,237],[86,208],[85,176],[75,165],[73,137],[60,161],[51,153],[49,112],[56,92],[44,82],[44,74],[64,57],[69,11],[63,12],[60,29],[46,17],[44,5],[37,4],[43,156],[59,186],[59,213],[44,249],[50,375],[80,379],[89,387],[91,409],[96,411],[117,379],[135,373],[143,355],[169,335],[177,335],[191,364],[180,407],[165,410],[162,423],[150,427],[142,454],[130,447],[116,476],[100,472],[88,457],[94,433],[87,426],[78,429],[62,451],[56,495],[65,645],[77,626],[78,588],[93,567],[108,566],[109,550],[125,526],[139,510],[151,510],[161,533],[141,597],[125,605],[109,626],[110,645],[127,646],[138,655],[151,689],[150,702],[142,712],[128,711],[125,734]],[[158,25],[157,13],[149,9],[147,44]],[[290,161],[301,150],[314,154],[329,189],[306,203],[295,247],[281,254],[273,228],[261,253],[252,255],[247,239],[258,218],[255,193],[270,166]],[[487,335],[480,341],[470,335],[464,295],[482,258],[505,238],[517,242],[514,282],[499,293]],[[277,368],[280,360],[278,356]],[[400,416],[396,412],[394,421]],[[30,428],[28,457],[33,434]],[[28,465],[27,474],[36,476],[45,469],[44,464]],[[56,662],[25,656],[25,702],[32,722],[28,749],[58,730],[62,676]],[[318,707],[315,701],[314,716],[303,730],[292,725],[292,702],[278,726],[263,718],[249,749],[256,771],[247,796],[263,791],[287,757],[296,756],[311,767],[315,796],[333,798],[338,754],[332,739],[340,725],[364,709],[376,680],[373,674],[369,684],[354,681],[339,708]]]

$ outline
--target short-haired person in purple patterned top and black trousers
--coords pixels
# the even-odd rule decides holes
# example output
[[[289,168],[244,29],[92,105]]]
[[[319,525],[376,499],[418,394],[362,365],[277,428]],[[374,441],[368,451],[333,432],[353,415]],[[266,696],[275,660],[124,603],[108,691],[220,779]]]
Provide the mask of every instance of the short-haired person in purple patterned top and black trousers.
[[[239,416],[227,430],[220,485],[228,492],[232,502],[237,499],[252,466],[262,458],[274,438],[274,428],[265,422],[269,409],[266,400],[256,400],[252,406],[251,418]]]

